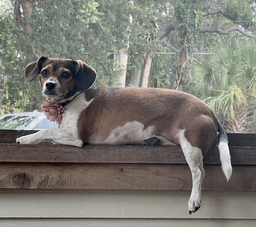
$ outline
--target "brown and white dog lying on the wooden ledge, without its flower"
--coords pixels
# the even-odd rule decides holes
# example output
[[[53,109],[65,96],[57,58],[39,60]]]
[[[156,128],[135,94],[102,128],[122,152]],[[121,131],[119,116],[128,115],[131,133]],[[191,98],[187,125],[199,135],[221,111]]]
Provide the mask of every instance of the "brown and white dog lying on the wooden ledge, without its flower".
[[[42,94],[63,105],[65,116],[59,129],[23,136],[17,143],[181,145],[193,180],[190,214],[201,205],[203,155],[213,144],[218,144],[223,172],[230,179],[226,133],[213,111],[197,97],[158,88],[91,88],[96,72],[80,60],[42,56],[27,65],[26,82],[38,74]]]

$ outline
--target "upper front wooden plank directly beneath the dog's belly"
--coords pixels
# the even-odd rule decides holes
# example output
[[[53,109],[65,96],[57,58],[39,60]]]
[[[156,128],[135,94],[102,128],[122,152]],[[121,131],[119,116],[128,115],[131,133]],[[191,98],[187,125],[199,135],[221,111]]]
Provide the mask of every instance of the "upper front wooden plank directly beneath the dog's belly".
[[[232,165],[256,165],[256,148],[230,147]],[[180,146],[107,146],[82,148],[53,145],[0,144],[0,162],[75,162],[186,164]],[[211,147],[204,164],[220,165],[217,147]]]

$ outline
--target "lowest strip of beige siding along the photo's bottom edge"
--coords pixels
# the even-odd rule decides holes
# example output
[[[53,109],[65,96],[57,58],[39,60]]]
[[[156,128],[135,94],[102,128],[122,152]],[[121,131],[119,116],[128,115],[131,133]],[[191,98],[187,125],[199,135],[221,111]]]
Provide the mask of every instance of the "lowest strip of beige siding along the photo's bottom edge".
[[[1,219],[4,227],[255,227],[256,220],[248,219],[53,219],[53,218],[15,218]]]

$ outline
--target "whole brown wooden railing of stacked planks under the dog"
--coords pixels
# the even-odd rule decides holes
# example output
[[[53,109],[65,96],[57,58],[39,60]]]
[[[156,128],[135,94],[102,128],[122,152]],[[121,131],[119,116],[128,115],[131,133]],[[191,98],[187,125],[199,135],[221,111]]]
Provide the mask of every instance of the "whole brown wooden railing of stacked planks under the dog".
[[[179,146],[73,147],[16,144],[35,131],[0,130],[0,188],[191,190]],[[228,134],[233,174],[226,182],[217,147],[204,157],[203,190],[256,191],[256,134]]]

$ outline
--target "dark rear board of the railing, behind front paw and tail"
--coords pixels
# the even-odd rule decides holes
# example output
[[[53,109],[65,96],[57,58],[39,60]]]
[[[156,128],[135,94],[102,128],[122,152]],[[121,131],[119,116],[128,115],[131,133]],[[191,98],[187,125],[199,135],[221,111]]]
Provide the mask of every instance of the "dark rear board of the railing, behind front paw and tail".
[[[18,137],[32,134],[37,131],[30,130],[0,130],[0,144],[15,144]],[[255,133],[227,133],[229,146],[256,147]]]

